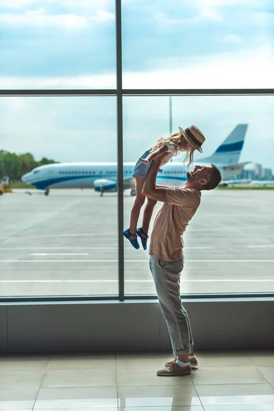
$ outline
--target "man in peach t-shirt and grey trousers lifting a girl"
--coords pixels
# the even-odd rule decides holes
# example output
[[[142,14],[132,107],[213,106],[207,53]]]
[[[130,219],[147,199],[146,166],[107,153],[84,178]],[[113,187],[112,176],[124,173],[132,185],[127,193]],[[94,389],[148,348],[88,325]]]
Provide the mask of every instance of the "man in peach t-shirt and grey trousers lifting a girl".
[[[161,158],[153,160],[142,194],[164,202],[151,232],[149,266],[175,359],[166,362],[166,367],[157,375],[187,375],[191,373],[191,366],[197,366],[198,362],[193,351],[190,321],[180,298],[179,280],[184,267],[182,234],[199,207],[201,191],[218,186],[221,173],[213,164],[195,166],[186,174],[184,188],[156,186],[160,162]]]

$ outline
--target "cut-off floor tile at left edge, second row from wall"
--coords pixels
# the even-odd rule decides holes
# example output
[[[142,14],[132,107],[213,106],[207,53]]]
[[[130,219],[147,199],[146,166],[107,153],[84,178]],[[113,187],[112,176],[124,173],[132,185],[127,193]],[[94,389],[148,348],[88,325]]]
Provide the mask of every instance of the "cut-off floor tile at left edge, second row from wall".
[[[39,388],[45,371],[0,371],[0,388]]]

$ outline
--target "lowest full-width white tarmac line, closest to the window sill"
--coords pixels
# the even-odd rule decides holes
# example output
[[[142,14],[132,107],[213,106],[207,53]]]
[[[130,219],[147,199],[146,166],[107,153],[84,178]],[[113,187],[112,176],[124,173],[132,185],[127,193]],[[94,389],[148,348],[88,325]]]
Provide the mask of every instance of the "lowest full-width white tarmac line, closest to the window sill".
[[[118,283],[118,279],[1,279],[0,283]],[[153,279],[125,279],[125,282],[153,282]],[[274,279],[181,279],[181,283],[184,282],[274,282]]]

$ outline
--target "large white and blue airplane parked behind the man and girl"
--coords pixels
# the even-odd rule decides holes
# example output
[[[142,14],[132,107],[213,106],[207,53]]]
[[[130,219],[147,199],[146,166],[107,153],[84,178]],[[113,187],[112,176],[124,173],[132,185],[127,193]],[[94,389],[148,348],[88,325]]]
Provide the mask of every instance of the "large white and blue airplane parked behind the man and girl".
[[[198,164],[215,164],[221,171],[223,179],[238,175],[249,162],[239,163],[240,153],[245,142],[247,124],[238,124],[221,145],[206,158],[201,158]],[[135,162],[123,164],[124,190],[131,188],[135,195],[135,180],[132,176]],[[195,164],[193,164],[195,166]],[[167,186],[183,186],[186,182],[187,167],[182,162],[169,162],[161,167],[157,183]],[[25,183],[45,190],[49,188],[95,188],[95,191],[113,192],[117,190],[116,162],[64,162],[38,166],[30,173],[21,177]]]

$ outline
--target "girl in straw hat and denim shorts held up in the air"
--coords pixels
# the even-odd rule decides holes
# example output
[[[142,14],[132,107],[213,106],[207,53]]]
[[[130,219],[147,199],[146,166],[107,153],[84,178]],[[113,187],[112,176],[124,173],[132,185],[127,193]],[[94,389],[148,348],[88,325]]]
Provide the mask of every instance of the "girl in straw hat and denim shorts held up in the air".
[[[169,162],[173,155],[177,155],[180,151],[184,151],[186,153],[186,158],[184,161],[188,160],[189,167],[193,162],[193,153],[195,149],[201,153],[201,145],[205,140],[205,136],[203,136],[203,133],[195,125],[190,125],[190,127],[186,129],[179,127],[179,132],[171,134],[171,136],[167,138],[159,138],[155,146],[147,150],[142,157],[139,158],[138,162],[136,162],[134,168],[134,178],[136,180],[136,199],[134,201],[132,214],[130,216],[129,228],[123,232],[125,238],[131,242],[134,248],[140,248],[137,239],[137,236],[139,236],[142,241],[143,249],[147,249],[147,238],[149,238],[147,233],[149,231],[149,223],[151,221],[153,208],[157,203],[157,201],[153,199],[147,199],[147,206],[145,207],[142,219],[142,227],[137,229],[140,210],[145,202],[145,196],[142,195],[142,186],[144,185],[145,177],[151,168],[151,161],[159,155],[164,155],[164,158],[160,164],[162,166]]]

